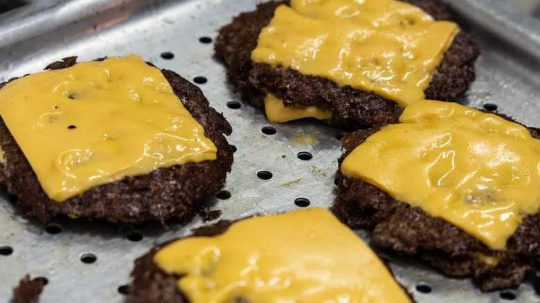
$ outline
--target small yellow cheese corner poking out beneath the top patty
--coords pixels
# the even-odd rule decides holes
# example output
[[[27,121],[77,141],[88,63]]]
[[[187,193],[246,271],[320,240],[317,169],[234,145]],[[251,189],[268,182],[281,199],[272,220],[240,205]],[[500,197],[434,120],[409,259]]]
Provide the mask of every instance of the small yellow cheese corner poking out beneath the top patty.
[[[268,120],[272,122],[287,122],[302,118],[316,118],[325,120],[332,118],[332,111],[319,109],[318,107],[285,107],[283,100],[271,93],[264,97],[264,111]]]

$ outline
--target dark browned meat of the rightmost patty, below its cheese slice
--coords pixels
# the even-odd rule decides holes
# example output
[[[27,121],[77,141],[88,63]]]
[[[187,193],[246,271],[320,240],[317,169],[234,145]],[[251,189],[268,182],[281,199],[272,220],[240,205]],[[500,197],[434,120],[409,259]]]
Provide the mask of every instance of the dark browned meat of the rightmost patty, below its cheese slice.
[[[341,197],[332,207],[336,217],[351,228],[373,229],[375,243],[420,255],[447,275],[471,275],[482,291],[519,285],[532,260],[540,257],[540,214],[525,217],[504,250],[492,250],[451,223],[393,199],[369,183],[344,176],[343,159],[378,130],[362,129],[341,139],[345,152],[336,174]],[[528,130],[534,138],[540,138],[540,129]],[[498,265],[489,266],[470,255],[478,252],[498,258]]]

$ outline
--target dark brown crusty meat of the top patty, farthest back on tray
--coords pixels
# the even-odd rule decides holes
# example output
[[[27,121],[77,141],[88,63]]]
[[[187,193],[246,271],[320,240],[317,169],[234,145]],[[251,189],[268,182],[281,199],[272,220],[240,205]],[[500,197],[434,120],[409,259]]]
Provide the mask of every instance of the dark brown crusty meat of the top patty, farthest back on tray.
[[[449,20],[444,4],[431,0],[404,1],[422,8],[436,20]],[[381,126],[397,122],[402,108],[375,93],[341,87],[323,77],[302,75],[291,68],[272,68],[268,64],[251,62],[251,52],[257,46],[262,28],[267,26],[276,8],[289,1],[263,3],[253,12],[243,12],[231,24],[219,30],[215,53],[228,68],[227,75],[237,84],[237,91],[257,107],[264,108],[264,95],[273,93],[285,106],[316,106],[331,109],[330,124],[348,127]],[[433,73],[426,89],[426,99],[450,101],[465,91],[474,81],[474,62],[480,50],[473,35],[460,32],[442,62]]]

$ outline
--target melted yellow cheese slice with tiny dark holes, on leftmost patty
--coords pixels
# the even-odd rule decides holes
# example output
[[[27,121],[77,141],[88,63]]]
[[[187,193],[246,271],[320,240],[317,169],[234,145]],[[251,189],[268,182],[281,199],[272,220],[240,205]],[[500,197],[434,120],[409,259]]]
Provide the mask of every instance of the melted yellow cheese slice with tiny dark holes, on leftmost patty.
[[[55,201],[127,175],[216,157],[161,71],[136,55],[9,82],[0,89],[0,114]]]

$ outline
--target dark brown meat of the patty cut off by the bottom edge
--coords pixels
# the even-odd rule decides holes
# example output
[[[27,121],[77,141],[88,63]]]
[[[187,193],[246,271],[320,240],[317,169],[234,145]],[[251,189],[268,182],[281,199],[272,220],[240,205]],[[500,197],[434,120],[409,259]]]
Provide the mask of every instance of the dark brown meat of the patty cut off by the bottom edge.
[[[203,226],[193,230],[191,237],[212,237],[224,233],[234,221],[222,220],[210,226]],[[132,271],[133,283],[130,293],[136,303],[188,303],[190,302],[178,288],[177,276],[165,273],[154,263],[154,254],[173,241],[160,244],[147,252],[146,255],[136,259],[135,268]],[[388,268],[390,270],[390,268]],[[391,273],[391,270],[390,270]],[[404,289],[405,293],[413,297]],[[250,303],[242,298],[237,298],[230,303]]]

